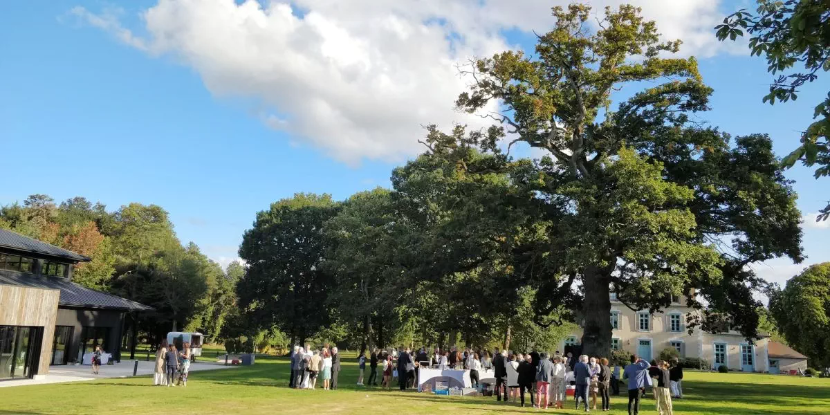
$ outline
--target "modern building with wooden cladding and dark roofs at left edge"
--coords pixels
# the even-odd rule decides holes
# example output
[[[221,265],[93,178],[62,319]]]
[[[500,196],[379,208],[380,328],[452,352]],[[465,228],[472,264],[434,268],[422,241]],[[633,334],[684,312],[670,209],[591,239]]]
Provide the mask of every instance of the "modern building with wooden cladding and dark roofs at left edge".
[[[153,310],[72,282],[90,258],[0,229],[0,380],[83,362],[100,344],[120,360],[125,313]]]

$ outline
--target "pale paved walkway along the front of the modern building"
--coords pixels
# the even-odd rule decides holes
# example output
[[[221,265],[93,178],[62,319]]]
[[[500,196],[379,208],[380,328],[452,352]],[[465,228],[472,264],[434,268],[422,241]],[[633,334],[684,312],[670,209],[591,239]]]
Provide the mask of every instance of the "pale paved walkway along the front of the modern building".
[[[40,385],[45,383],[63,383],[63,382],[80,382],[84,380],[94,380],[100,378],[129,378],[133,375],[134,360],[122,360],[120,364],[101,366],[100,374],[92,374],[91,366],[50,366],[49,374],[38,379],[15,379],[0,381],[0,388],[7,388],[10,386],[24,386],[24,385]],[[153,374],[155,369],[154,361],[139,360],[139,370],[137,375]],[[212,362],[197,362],[190,364],[190,371],[196,372],[199,370],[216,370],[216,369],[231,369],[235,366]],[[150,379],[152,381],[152,379]]]

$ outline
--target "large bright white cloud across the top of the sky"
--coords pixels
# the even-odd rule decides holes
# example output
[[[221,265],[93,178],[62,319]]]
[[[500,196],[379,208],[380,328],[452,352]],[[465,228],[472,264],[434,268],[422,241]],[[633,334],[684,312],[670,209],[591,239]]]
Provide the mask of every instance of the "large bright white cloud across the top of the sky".
[[[595,12],[621,1],[594,1]],[[684,51],[727,47],[712,27],[715,0],[643,0],[643,14]],[[146,38],[118,13],[71,14],[151,56],[192,67],[213,95],[243,97],[271,129],[335,159],[398,161],[422,151],[421,125],[483,125],[453,110],[469,80],[455,65],[509,48],[501,31],[544,32],[564,0],[159,0],[143,13]]]

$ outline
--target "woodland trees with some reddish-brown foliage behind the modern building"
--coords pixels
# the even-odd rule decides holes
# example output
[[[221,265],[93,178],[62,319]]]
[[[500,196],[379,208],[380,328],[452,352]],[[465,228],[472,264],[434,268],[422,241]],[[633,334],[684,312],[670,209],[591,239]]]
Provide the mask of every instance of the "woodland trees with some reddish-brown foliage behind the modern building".
[[[194,244],[182,247],[159,206],[130,203],[110,213],[85,198],[58,206],[36,194],[22,206],[0,207],[0,226],[89,256],[72,281],[156,307],[139,315],[139,329],[151,342],[173,327],[216,339],[235,301],[222,269]]]

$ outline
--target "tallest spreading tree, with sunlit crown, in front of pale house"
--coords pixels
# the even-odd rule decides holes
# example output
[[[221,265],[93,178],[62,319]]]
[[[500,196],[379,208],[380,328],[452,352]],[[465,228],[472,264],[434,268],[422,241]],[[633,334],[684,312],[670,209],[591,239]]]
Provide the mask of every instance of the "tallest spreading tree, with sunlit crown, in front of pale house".
[[[696,288],[714,315],[730,315],[755,337],[752,293],[766,286],[745,265],[783,255],[801,260],[800,213],[769,138],[740,137],[730,147],[729,135],[690,123],[691,113],[707,110],[711,89],[694,58],[663,57],[679,42],[659,41],[654,22],[636,7],[606,8],[596,31],[586,24],[588,6],[553,13],[554,28],[539,37],[535,56],[506,51],[462,71],[472,85],[457,106],[478,113],[496,101],[500,112],[480,115],[498,125],[471,134],[431,129],[433,159],[446,159],[468,180],[509,178],[491,204],[532,217],[500,235],[512,257],[506,263],[519,273],[513,279],[537,289],[540,315],[581,309],[589,354],[610,347],[609,286],[627,304],[652,310]],[[625,85],[651,82],[613,102]],[[496,145],[506,134],[546,156],[511,159]],[[467,204],[453,196],[442,209]],[[433,210],[443,214],[432,205],[419,213]],[[583,295],[574,295],[580,283]],[[696,299],[690,305],[703,308]],[[706,327],[710,315],[688,326]]]

